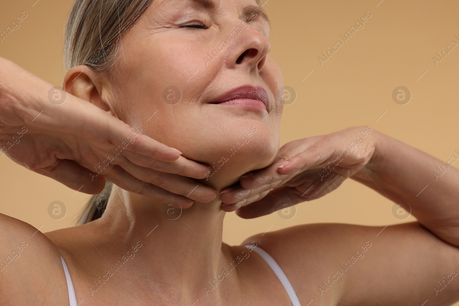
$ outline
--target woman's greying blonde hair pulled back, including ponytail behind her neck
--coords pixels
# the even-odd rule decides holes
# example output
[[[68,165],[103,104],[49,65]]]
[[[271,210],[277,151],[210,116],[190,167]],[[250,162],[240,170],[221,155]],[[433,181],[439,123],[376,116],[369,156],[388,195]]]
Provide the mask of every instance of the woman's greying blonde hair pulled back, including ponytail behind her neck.
[[[262,6],[261,0],[256,0]],[[120,39],[153,0],[76,0],[67,20],[64,66],[79,65],[112,77],[122,50]],[[116,84],[114,88],[116,89]],[[79,218],[78,225],[102,216],[112,191],[112,182],[94,195]]]

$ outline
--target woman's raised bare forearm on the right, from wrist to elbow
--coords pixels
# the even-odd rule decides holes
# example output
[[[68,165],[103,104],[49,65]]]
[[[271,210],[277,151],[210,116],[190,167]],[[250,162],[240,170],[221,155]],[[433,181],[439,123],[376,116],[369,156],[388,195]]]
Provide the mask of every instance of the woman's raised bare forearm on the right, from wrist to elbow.
[[[375,153],[353,178],[399,204],[408,203],[420,223],[459,246],[459,171],[448,161],[376,132]]]

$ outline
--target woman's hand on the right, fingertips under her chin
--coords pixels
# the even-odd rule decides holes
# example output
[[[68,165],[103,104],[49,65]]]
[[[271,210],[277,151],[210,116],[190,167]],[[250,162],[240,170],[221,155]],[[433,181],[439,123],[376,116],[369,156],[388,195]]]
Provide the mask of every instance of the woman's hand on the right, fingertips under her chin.
[[[320,198],[367,165],[377,133],[354,127],[291,141],[271,165],[246,173],[239,184],[222,190],[222,210],[254,218]]]

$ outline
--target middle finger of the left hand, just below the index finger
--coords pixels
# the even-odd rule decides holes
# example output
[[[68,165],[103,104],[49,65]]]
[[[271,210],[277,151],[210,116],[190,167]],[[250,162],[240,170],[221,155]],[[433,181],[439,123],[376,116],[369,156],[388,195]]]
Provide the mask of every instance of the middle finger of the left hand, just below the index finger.
[[[176,161],[169,162],[160,161],[132,151],[124,151],[123,156],[141,167],[179,174],[189,178],[206,178],[210,174],[210,168],[208,166],[186,159],[183,156],[180,156]]]

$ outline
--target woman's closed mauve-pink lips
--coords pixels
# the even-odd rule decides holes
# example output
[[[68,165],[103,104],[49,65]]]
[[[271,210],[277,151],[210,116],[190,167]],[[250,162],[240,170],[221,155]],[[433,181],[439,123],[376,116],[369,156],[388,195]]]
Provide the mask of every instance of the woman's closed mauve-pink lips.
[[[241,86],[227,91],[210,103],[268,109],[269,95],[263,87]]]

